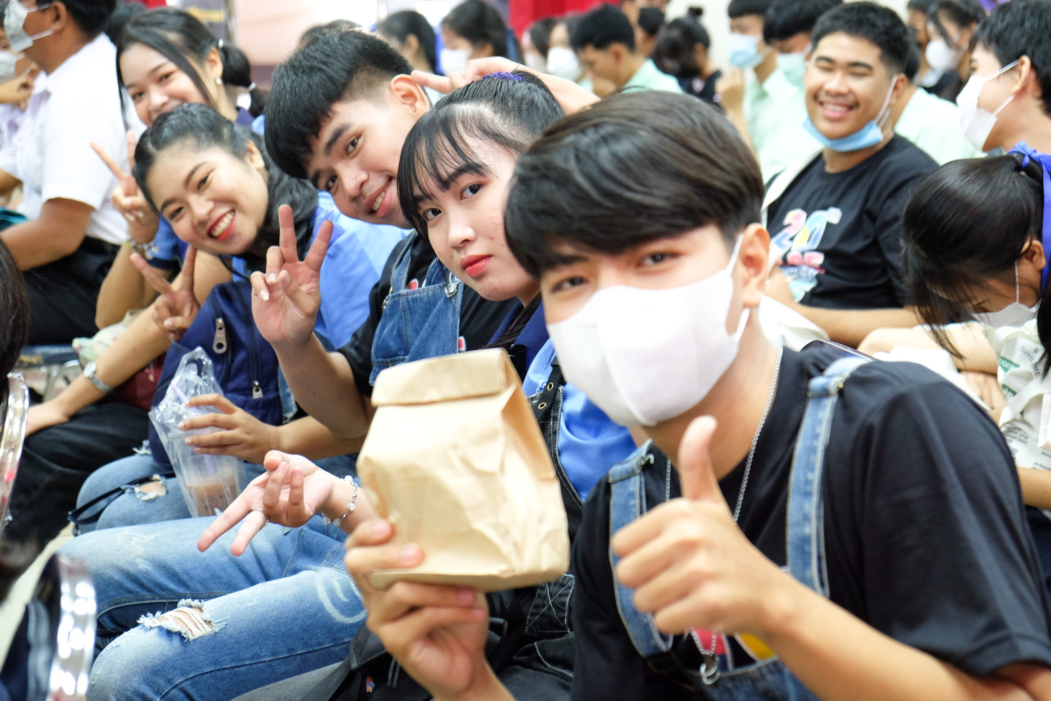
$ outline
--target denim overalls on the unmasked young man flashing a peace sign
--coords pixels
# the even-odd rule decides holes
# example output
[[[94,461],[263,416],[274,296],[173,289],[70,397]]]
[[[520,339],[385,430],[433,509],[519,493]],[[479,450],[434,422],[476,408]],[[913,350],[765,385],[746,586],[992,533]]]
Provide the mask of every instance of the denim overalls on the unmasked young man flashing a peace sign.
[[[463,285],[438,262],[431,263],[424,284],[409,289],[409,263],[419,233],[409,234],[391,272],[391,290],[372,341],[372,374],[400,363],[449,355],[459,347],[459,315]]]

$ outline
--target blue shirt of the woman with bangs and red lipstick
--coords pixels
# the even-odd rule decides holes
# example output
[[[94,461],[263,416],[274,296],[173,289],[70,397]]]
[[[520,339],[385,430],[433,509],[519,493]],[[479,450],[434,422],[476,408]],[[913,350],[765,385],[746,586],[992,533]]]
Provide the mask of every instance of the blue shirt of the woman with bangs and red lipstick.
[[[494,341],[503,334],[521,310],[521,305],[511,310],[493,336]],[[548,337],[542,304],[518,334],[511,353],[513,356],[524,353],[528,370],[522,390],[526,395],[539,392],[548,383],[552,365],[557,362],[555,346]],[[558,427],[558,457],[581,499],[586,499],[588,493],[610,468],[631,455],[635,448],[627,429],[614,424],[583,392],[565,384]]]

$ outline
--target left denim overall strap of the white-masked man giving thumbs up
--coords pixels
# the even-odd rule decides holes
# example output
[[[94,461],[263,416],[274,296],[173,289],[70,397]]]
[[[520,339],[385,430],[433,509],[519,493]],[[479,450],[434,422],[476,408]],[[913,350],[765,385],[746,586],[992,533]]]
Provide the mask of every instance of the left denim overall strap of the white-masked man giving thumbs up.
[[[627,459],[614,467],[606,477],[610,481],[610,570],[614,573],[617,611],[620,612],[620,620],[624,623],[624,630],[627,631],[635,650],[645,658],[671,650],[672,636],[663,635],[657,630],[651,614],[643,614],[635,607],[633,601],[635,590],[624,586],[617,579],[615,573],[620,557],[613,552],[613,536],[645,513],[646,495],[642,468],[647,461],[653,460],[653,456],[647,452],[650,444],[651,441],[646,441]]]

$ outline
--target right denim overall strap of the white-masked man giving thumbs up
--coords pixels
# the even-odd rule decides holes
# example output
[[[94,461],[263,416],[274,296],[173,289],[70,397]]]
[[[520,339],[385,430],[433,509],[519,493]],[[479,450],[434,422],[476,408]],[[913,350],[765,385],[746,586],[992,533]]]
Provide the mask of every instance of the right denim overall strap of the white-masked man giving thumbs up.
[[[818,594],[828,597],[828,571],[825,563],[824,500],[821,475],[825,448],[832,426],[836,399],[847,377],[869,360],[841,357],[825,372],[810,380],[809,399],[796,441],[788,487],[788,516],[785,553],[788,572]]]

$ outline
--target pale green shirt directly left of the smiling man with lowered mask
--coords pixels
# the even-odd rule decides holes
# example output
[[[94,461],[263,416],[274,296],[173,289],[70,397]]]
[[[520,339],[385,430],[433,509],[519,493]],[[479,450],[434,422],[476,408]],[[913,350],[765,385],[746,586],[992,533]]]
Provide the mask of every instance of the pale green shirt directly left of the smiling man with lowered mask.
[[[763,83],[754,70],[746,71],[741,106],[764,181],[821,149],[821,144],[803,128],[803,90],[780,68]]]

